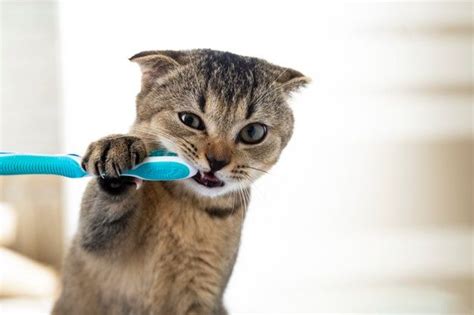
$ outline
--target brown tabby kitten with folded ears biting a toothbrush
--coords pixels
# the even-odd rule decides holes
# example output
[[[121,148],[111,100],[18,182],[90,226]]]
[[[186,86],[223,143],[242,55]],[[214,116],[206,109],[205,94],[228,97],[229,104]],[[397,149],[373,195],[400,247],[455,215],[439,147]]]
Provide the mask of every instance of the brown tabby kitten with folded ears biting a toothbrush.
[[[53,314],[227,314],[250,185],[293,131],[287,104],[309,79],[265,60],[210,49],[145,51],[128,134],[90,144],[78,232]],[[111,113],[113,117],[113,112]],[[142,182],[120,174],[165,148],[193,178]]]

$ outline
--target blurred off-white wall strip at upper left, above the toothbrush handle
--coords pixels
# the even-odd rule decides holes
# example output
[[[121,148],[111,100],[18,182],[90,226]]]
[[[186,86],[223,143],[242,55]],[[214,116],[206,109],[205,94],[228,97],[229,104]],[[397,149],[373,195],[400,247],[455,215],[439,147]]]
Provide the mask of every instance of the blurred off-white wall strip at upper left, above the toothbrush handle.
[[[61,141],[62,114],[56,4],[4,2],[2,7],[2,143],[11,151],[52,153]]]

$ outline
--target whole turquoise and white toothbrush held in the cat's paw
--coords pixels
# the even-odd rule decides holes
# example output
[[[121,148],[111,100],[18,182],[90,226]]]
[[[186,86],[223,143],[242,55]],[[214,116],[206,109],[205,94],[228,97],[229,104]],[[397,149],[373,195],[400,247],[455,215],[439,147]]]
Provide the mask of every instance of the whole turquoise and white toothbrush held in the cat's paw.
[[[0,152],[2,175],[59,175],[69,178],[91,176],[82,168],[82,159],[76,154],[45,155]],[[149,181],[170,181],[194,176],[197,170],[166,150],[153,151],[142,163],[125,171],[121,176],[131,176]]]

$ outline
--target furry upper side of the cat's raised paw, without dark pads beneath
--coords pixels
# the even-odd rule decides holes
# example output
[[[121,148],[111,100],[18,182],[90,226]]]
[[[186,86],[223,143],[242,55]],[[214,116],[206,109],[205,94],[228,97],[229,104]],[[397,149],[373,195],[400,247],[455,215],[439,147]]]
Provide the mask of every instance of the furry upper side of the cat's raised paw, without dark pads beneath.
[[[101,178],[119,178],[124,171],[141,163],[146,156],[145,143],[140,138],[112,135],[89,145],[82,167]]]

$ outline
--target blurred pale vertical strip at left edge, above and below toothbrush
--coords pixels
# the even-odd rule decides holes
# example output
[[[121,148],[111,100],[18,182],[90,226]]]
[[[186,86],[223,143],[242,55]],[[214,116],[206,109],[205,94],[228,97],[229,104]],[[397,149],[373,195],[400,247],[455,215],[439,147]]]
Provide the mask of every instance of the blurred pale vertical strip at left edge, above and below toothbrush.
[[[60,151],[60,78],[57,4],[2,1],[1,149]],[[0,200],[18,216],[13,248],[59,266],[62,256],[61,181],[52,177],[1,178]]]

